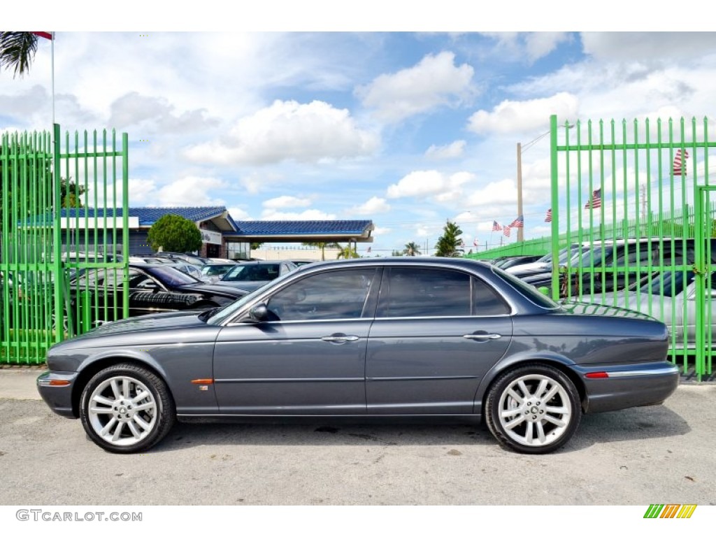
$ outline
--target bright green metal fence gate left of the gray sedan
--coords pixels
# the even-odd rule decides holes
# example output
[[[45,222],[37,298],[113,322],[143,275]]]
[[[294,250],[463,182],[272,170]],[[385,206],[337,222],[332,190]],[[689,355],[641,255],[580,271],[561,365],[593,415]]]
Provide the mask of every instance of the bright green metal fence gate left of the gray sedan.
[[[0,138],[0,364],[44,362],[54,342],[92,328],[107,294],[102,304],[127,315],[127,147],[106,130],[63,139],[59,125]],[[119,284],[78,277],[89,271]]]

